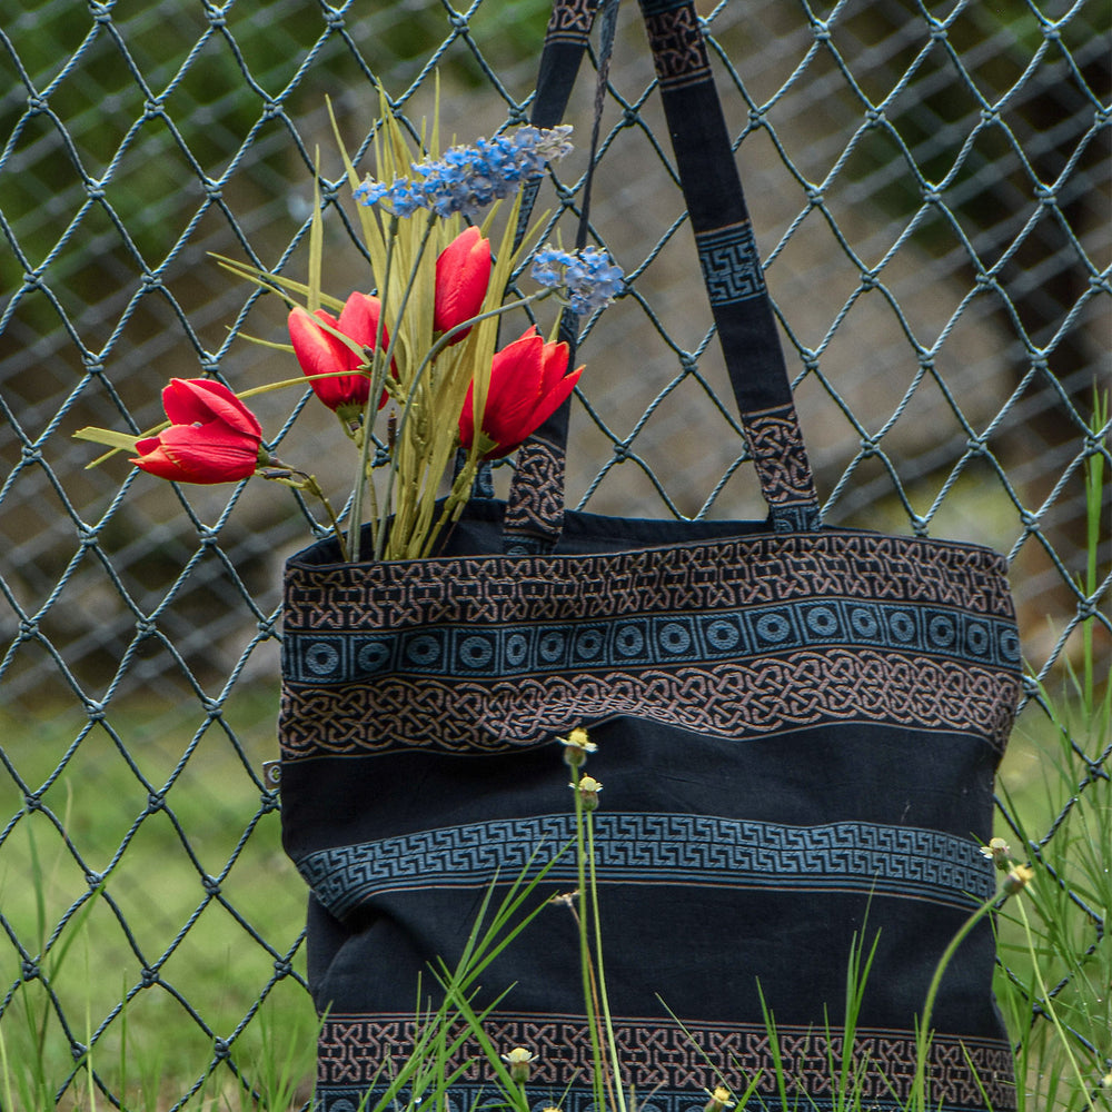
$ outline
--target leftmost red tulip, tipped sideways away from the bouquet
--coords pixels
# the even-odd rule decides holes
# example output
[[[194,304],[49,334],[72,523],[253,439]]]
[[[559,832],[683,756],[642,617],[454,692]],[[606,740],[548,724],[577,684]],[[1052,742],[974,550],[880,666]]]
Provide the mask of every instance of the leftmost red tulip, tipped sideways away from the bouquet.
[[[162,406],[171,425],[136,441],[137,467],[176,483],[236,483],[255,474],[262,429],[227,386],[171,378]]]

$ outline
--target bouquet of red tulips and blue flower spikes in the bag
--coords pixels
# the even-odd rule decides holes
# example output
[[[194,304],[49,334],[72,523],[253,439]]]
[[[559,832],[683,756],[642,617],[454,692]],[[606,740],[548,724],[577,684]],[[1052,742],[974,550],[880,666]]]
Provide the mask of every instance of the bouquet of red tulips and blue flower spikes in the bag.
[[[434,125],[421,143],[430,153],[414,160],[398,120],[386,110],[383,119],[377,178],[360,182],[344,155],[370,260],[368,291],[341,300],[321,290],[319,193],[307,282],[220,259],[287,301],[290,342],[268,346],[292,353],[302,375],[238,394],[215,379],[172,379],[158,428],[138,437],[102,428],[76,434],[127,450],[137,467],[172,481],[260,476],[302,490],[319,498],[341,556],[355,562],[430,555],[463,512],[480,465],[513,453],[574,389],[583,367],[572,369],[567,344],[534,325],[499,347],[500,317],[549,296],[590,311],[622,288],[622,271],[605,251],[548,246],[534,252],[530,274],[540,289],[506,299],[525,239],[522,186],[572,149],[569,127],[519,127],[438,155]],[[495,250],[492,228],[507,198]],[[306,381],[355,449],[346,536],[315,476],[270,453],[244,400]]]

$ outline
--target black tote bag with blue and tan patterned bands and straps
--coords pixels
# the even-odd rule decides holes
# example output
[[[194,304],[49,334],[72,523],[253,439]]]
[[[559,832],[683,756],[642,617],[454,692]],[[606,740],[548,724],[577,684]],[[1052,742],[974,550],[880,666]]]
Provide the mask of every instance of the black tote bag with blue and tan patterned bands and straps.
[[[557,737],[577,726],[605,785],[606,983],[637,1108],[702,1109],[757,1074],[771,1098],[762,994],[801,1108],[830,1105],[830,1058],[851,1052],[868,1106],[898,1106],[937,960],[993,892],[979,845],[1020,692],[1004,560],[821,524],[695,9],[642,9],[768,519],[565,513],[565,407],[440,555],[353,565],[322,542],[289,560],[282,830],[310,888],[325,1112],[384,1090],[429,964],[458,959],[496,877],[573,833]],[[558,120],[590,22],[556,3],[535,122]],[[560,858],[540,896],[574,886]],[[855,934],[876,954],[844,1046]],[[509,989],[485,1029],[533,1053],[538,1109],[594,1100],[577,947],[553,906],[483,975],[490,999]],[[943,1112],[1014,1108],[993,962],[982,922],[933,1014]],[[450,1104],[494,1099],[477,1065]]]

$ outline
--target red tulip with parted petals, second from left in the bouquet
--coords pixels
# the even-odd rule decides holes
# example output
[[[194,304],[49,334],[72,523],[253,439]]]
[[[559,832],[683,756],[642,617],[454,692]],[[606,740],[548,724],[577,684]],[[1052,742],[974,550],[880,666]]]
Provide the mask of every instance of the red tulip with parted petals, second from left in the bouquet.
[[[383,306],[377,297],[369,294],[353,294],[344,302],[340,319],[330,312],[317,309],[309,314],[300,306],[289,315],[289,338],[294,344],[294,354],[306,375],[336,375],[337,371],[355,371],[335,378],[314,378],[309,385],[314,394],[329,409],[361,410],[370,396],[370,375],[359,373],[366,370],[368,359],[356,354],[338,336],[321,328],[317,320],[324,321],[337,331],[353,339],[360,349],[373,351],[378,336],[378,318]],[[312,318],[316,317],[317,320]],[[390,338],[383,329],[383,346],[388,347]],[[386,405],[386,391],[378,400],[378,408]]]

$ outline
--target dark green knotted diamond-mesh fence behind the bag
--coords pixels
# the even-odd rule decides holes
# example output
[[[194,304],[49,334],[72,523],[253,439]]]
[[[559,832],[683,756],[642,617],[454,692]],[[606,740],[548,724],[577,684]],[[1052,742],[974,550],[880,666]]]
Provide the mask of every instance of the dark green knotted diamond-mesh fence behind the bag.
[[[1085,619],[1106,653],[1108,518],[1086,578],[1082,479],[1098,454],[1112,469],[1109,426],[1091,427],[1109,6],[701,12],[826,519],[1006,553],[1040,681],[1076,659]],[[270,484],[87,469],[71,434],[150,428],[171,376],[296,374],[245,338],[282,339],[281,306],[210,252],[304,278],[319,150],[325,287],[365,285],[326,97],[353,151],[380,93],[419,128],[437,79],[441,132],[492,135],[527,118],[546,19],[546,0],[2,6],[0,1045],[41,1054],[53,1100],[93,1084],[131,1102],[143,1071],[188,1079],[160,1106],[227,1079],[249,1093],[290,1014],[311,1043],[301,887],[261,762],[279,569],[320,525]],[[629,289],[585,327],[569,493],[599,513],[763,516],[633,6],[609,93],[593,225]],[[538,211],[569,229],[584,169],[580,146]],[[258,403],[339,490],[349,460],[301,391]],[[1108,780],[1101,745],[1079,792]]]

